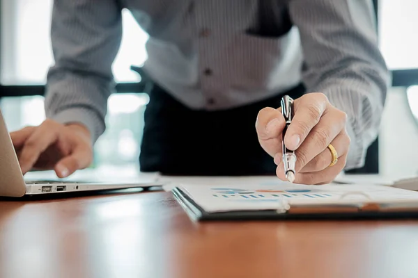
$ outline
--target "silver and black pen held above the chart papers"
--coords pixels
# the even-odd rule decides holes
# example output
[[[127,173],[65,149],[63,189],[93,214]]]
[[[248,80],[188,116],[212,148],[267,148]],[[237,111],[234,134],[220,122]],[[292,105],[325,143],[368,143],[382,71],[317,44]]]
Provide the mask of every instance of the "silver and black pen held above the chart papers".
[[[288,126],[291,124],[293,119],[293,99],[288,95],[285,95],[281,98],[281,114],[286,120],[286,126],[282,132],[282,142],[281,142],[281,153],[283,154],[283,163],[284,163],[284,174],[286,174],[286,179],[293,183],[295,181],[295,166],[296,166],[296,155],[295,152],[287,149],[284,145],[284,136],[286,136],[286,131]]]

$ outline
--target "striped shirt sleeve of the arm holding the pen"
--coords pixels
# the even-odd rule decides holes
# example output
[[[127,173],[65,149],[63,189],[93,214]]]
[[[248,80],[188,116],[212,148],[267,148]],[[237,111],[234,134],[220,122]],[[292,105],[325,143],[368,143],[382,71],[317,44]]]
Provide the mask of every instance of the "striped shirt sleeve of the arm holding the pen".
[[[348,115],[351,139],[346,170],[362,167],[378,135],[390,74],[378,49],[373,4],[368,0],[292,0],[300,31],[304,83],[323,92]]]

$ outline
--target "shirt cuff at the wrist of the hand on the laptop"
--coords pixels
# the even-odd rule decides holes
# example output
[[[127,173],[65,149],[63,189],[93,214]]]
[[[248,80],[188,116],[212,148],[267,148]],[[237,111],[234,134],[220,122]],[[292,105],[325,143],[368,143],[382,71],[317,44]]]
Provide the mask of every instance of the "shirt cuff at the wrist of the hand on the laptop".
[[[55,115],[49,116],[49,119],[60,124],[83,124],[90,131],[92,144],[98,140],[106,128],[104,121],[94,111],[86,108],[66,108]]]

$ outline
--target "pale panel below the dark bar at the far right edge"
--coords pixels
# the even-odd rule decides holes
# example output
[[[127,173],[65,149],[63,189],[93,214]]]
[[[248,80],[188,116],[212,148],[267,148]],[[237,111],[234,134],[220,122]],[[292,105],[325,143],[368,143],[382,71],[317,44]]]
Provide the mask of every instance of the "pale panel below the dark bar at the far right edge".
[[[418,121],[412,117],[405,88],[389,90],[379,144],[381,174],[418,175]]]

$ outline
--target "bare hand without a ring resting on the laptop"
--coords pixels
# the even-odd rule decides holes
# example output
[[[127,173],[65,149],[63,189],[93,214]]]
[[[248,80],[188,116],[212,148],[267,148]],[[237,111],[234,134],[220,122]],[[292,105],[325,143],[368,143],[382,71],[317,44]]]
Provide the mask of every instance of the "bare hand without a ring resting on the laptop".
[[[93,161],[91,136],[82,124],[63,125],[45,120],[10,133],[22,173],[54,170],[60,178],[88,167]]]

